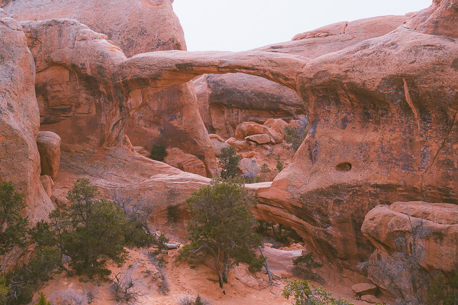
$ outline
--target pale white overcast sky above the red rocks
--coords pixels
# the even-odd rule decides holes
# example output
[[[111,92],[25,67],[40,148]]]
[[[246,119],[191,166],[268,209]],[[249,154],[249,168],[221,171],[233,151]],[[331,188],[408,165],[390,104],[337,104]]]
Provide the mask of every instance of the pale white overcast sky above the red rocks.
[[[323,25],[404,15],[432,0],[175,0],[188,51],[243,51]]]

